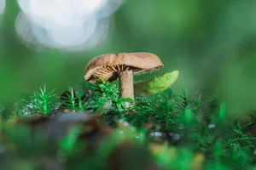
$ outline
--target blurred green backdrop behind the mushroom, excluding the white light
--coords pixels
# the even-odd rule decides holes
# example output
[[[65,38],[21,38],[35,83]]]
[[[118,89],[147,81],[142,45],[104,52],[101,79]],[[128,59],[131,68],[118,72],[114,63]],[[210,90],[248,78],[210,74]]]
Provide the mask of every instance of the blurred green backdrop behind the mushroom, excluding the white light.
[[[230,113],[243,113],[256,102],[255,0],[127,0],[115,14],[106,42],[90,51],[38,52],[15,33],[19,12],[7,0],[0,15],[0,105],[38,91],[46,84],[61,94],[84,76],[99,54],[152,52],[165,67],[154,75],[180,71],[176,93],[188,88],[204,98],[217,94]]]

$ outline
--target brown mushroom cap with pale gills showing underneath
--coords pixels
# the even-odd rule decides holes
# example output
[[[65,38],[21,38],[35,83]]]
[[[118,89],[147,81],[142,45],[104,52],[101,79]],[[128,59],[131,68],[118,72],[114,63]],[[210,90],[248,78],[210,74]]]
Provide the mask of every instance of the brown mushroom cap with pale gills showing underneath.
[[[91,59],[85,68],[85,81],[96,82],[96,77],[106,81],[116,80],[116,72],[133,71],[134,75],[155,71],[164,65],[155,54],[150,53],[121,53],[102,54]]]

